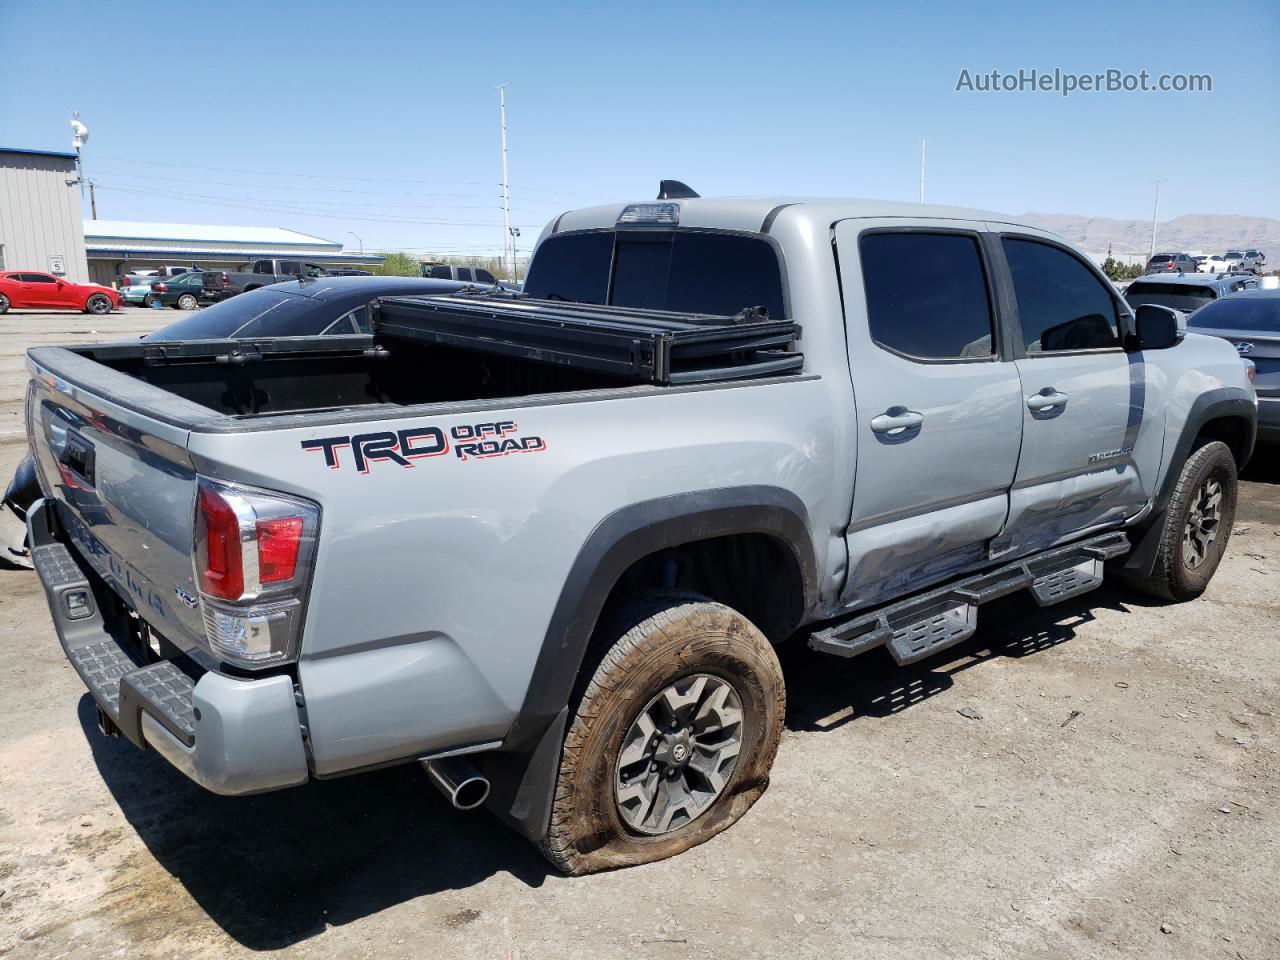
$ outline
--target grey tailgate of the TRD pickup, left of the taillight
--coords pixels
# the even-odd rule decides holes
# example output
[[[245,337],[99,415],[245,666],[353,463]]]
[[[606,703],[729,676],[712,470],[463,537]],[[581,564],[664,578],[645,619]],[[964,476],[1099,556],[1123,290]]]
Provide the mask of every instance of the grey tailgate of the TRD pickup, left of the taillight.
[[[73,545],[169,641],[202,646],[192,570],[196,474],[179,417],[212,411],[161,394],[166,415],[143,412],[131,401],[155,388],[68,351],[32,351],[29,365],[32,452]]]

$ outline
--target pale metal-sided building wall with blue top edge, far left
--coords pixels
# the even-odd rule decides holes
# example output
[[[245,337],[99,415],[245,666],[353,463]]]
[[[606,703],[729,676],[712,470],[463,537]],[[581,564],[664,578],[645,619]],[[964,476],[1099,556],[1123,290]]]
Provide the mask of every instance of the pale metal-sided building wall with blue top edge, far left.
[[[52,156],[0,151],[0,243],[6,270],[49,271],[49,257],[61,255],[67,279],[87,283],[84,225],[81,221],[76,163]]]

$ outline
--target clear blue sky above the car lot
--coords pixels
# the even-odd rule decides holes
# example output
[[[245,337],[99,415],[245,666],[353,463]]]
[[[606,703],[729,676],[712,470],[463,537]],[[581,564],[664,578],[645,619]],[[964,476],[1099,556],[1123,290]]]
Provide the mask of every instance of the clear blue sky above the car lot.
[[[91,129],[99,215],[367,250],[705,195],[1280,216],[1280,3],[243,5],[0,0],[0,143]],[[1229,10],[1229,13],[1228,13]],[[1208,93],[956,92],[961,69],[1207,73]],[[1231,186],[1233,183],[1238,186]],[[0,211],[3,214],[3,211]]]

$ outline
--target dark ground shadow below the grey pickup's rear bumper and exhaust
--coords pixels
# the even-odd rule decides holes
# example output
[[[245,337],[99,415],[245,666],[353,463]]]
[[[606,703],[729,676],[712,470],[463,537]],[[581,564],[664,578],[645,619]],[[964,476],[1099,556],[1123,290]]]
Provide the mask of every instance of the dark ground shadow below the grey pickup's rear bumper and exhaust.
[[[224,797],[159,754],[99,733],[88,695],[79,722],[102,780],[150,854],[251,950],[279,950],[497,873],[538,887],[550,870],[492,815],[454,810],[416,764]],[[433,913],[442,927],[474,919],[428,905],[424,936]]]

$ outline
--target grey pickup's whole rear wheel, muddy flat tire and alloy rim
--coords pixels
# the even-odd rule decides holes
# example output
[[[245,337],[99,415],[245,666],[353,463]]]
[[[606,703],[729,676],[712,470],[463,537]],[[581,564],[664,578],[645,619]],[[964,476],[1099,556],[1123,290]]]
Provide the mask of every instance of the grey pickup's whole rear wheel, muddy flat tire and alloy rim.
[[[602,639],[540,845],[571,874],[662,860],[736,823],[768,785],[786,712],[773,648],[723,604],[659,595]]]

